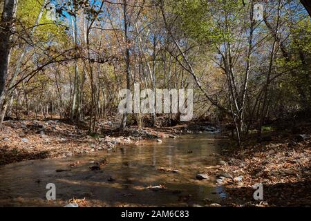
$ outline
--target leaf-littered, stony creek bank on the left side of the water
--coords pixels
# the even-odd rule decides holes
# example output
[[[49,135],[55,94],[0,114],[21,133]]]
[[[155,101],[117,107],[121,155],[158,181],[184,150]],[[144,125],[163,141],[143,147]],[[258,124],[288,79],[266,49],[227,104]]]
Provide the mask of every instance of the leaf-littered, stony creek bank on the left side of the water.
[[[110,121],[100,121],[99,134],[88,135],[86,122],[78,125],[60,119],[8,120],[0,134],[0,165],[38,160],[66,158],[75,155],[97,155],[99,151],[114,151],[117,146],[162,142],[179,135],[196,133],[200,126],[173,126],[138,128],[129,126],[123,131],[115,129]]]

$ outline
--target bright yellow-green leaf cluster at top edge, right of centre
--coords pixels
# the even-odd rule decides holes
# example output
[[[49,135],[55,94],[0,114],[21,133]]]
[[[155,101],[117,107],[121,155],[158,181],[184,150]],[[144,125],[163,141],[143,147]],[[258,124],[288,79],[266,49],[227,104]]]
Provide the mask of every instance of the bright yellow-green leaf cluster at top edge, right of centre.
[[[180,17],[183,32],[200,42],[229,41],[232,34],[230,26],[238,23],[240,10],[241,3],[232,0],[178,0],[173,3],[173,12]]]

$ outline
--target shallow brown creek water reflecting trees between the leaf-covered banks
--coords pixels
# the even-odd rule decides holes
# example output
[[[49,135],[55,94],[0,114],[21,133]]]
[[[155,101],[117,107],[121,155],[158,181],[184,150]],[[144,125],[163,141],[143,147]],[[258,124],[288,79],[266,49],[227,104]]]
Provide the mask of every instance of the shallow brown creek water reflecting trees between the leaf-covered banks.
[[[218,153],[213,135],[200,134],[118,148],[115,153],[0,166],[0,206],[50,205],[45,200],[48,183],[56,185],[57,200],[86,198],[106,206],[204,205],[205,198],[217,202],[220,195],[215,193],[221,189],[212,187],[214,180],[196,180],[196,174],[216,164],[213,153]],[[104,158],[108,165],[102,166],[101,171],[90,171],[90,161]],[[77,161],[80,164],[69,167]],[[158,171],[159,167],[178,173],[164,173]],[[56,173],[57,169],[70,171]],[[109,177],[115,181],[109,182]],[[167,189],[157,192],[146,189],[159,184]],[[54,205],[62,206],[63,202],[57,202]]]

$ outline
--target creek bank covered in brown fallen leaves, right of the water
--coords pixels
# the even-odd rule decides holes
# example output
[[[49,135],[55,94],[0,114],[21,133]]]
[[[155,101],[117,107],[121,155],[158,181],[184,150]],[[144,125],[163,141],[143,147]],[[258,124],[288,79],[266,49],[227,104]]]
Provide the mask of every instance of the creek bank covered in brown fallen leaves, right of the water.
[[[301,129],[271,131],[259,143],[249,137],[243,152],[223,148],[218,166],[208,169],[227,194],[222,206],[311,206],[311,124]],[[263,184],[263,200],[254,200],[255,184]]]

